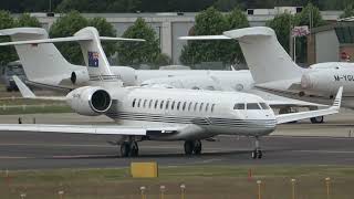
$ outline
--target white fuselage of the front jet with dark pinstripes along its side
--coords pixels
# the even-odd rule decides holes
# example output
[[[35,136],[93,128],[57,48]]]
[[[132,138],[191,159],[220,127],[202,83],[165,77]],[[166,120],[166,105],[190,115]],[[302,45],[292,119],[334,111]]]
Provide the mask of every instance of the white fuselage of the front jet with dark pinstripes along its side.
[[[138,87],[110,93],[116,101],[106,115],[122,125],[184,126],[177,134],[150,135],[149,139],[188,140],[220,134],[263,136],[272,133],[277,124],[272,109],[251,94]]]

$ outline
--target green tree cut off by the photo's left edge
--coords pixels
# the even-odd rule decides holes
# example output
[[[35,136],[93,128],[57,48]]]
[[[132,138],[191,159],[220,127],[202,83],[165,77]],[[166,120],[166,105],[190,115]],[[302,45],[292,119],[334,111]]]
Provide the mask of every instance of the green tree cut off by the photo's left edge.
[[[10,29],[15,27],[14,19],[10,15],[10,12],[0,11],[0,30]],[[9,42],[9,36],[0,36],[0,42]],[[8,62],[15,61],[18,59],[13,46],[0,46],[0,64],[7,64]]]

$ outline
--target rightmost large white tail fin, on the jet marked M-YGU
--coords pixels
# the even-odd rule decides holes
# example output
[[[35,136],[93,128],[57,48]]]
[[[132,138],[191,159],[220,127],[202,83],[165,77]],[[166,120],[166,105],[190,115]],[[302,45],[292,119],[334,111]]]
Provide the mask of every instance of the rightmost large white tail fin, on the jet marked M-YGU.
[[[223,32],[223,35],[239,41],[257,84],[301,77],[302,69],[291,60],[272,29],[246,28]]]

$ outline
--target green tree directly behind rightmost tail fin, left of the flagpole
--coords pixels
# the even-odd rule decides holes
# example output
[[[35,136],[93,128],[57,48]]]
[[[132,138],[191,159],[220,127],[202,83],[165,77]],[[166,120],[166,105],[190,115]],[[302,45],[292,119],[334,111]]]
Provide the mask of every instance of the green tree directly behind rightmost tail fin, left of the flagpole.
[[[293,27],[293,15],[290,13],[278,14],[274,17],[274,19],[268,21],[266,25],[275,31],[280,44],[285,49],[287,52],[289,52],[289,41],[290,32]]]

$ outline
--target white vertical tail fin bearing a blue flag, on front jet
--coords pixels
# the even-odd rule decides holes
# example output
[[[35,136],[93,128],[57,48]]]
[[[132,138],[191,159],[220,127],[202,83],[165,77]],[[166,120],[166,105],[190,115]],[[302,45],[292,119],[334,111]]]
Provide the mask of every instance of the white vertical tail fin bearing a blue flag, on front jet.
[[[87,36],[92,40],[79,41],[85,64],[87,66],[90,81],[92,84],[104,84],[107,82],[122,84],[118,76],[111,71],[110,62],[101,45],[98,31],[93,27],[87,27],[74,34],[75,36]]]

